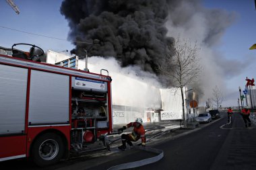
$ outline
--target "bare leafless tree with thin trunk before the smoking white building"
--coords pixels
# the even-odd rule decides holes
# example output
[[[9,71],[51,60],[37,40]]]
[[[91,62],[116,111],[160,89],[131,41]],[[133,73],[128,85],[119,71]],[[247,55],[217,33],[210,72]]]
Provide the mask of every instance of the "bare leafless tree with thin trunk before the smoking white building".
[[[165,55],[164,63],[158,66],[160,73],[169,80],[170,86],[181,89],[183,123],[185,122],[184,87],[197,81],[201,72],[198,50],[197,43],[192,45],[189,40],[177,38],[174,44],[169,44],[169,52]]]

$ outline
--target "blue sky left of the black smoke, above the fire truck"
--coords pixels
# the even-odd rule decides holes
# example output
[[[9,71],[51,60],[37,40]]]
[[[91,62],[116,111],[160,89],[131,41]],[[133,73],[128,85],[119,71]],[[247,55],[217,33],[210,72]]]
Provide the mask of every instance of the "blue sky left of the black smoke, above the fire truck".
[[[61,0],[14,0],[20,9],[17,15],[13,9],[0,0],[0,26],[14,28],[24,32],[32,32],[66,40],[69,32],[67,20],[59,12]],[[29,43],[40,46],[43,50],[71,50],[71,42],[43,38],[22,32],[15,32],[0,27],[0,46],[11,47],[15,43]]]

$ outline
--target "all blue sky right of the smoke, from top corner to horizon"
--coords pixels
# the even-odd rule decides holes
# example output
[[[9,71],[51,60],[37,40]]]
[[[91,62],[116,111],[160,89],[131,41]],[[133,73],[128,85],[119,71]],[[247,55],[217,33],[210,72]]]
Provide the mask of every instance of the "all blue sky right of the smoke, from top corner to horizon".
[[[239,97],[238,87],[241,86],[243,89],[246,83],[245,78],[255,78],[256,74],[256,50],[249,50],[256,43],[255,3],[254,0],[205,0],[203,4],[207,8],[224,9],[236,14],[234,23],[226,30],[220,45],[216,49],[225,58],[240,62],[248,60],[248,67],[244,67],[242,73],[226,79],[226,87],[231,90],[225,97],[224,105],[235,105]]]

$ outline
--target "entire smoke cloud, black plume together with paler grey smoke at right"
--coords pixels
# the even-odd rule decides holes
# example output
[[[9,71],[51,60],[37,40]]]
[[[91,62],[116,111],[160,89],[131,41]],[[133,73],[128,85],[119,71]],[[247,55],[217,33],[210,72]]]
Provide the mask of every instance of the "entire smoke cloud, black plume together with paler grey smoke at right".
[[[209,89],[216,84],[223,87],[224,77],[239,75],[243,67],[214,50],[236,14],[202,4],[203,0],[64,0],[61,14],[71,28],[69,40],[77,41],[73,51],[78,56],[90,48],[79,42],[98,39],[100,44],[94,44],[88,56],[114,56],[121,67],[133,65],[157,75],[156,66],[161,65],[164,54],[174,53],[166,51],[174,38],[198,42],[205,69],[197,88],[203,87],[198,91],[207,99],[212,95]],[[163,75],[158,78],[168,83]]]

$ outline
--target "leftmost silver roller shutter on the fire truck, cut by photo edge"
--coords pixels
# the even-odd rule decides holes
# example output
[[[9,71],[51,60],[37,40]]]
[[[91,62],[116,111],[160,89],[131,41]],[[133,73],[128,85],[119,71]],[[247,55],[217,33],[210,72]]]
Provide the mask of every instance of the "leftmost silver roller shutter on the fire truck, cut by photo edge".
[[[28,69],[0,64],[0,134],[24,133],[27,79]]]

